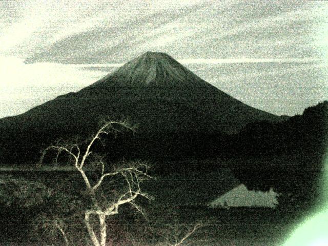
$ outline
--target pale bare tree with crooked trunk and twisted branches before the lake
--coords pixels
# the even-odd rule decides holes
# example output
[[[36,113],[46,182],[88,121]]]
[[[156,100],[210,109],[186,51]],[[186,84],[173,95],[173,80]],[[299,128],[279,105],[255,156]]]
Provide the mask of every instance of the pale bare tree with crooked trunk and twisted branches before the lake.
[[[94,142],[98,139],[100,139],[100,135],[108,135],[109,133],[117,133],[120,130],[115,129],[112,125],[121,125],[122,127],[125,127],[130,130],[134,130],[134,127],[130,126],[126,121],[107,121],[105,122],[104,126],[101,127],[98,132],[92,137],[91,141],[89,142],[89,145],[87,147],[87,150],[85,150],[84,153],[81,153],[81,149],[79,147],[79,144],[68,144],[66,145],[64,143],[63,146],[58,144],[58,146],[49,146],[42,154],[42,157],[40,158],[40,163],[43,161],[46,152],[49,150],[55,150],[57,151],[56,161],[59,157],[59,154],[61,152],[66,152],[69,157],[72,157],[71,160],[73,160],[75,168],[81,176],[83,177],[88,196],[91,198],[91,206],[92,209],[85,211],[85,224],[89,233],[89,236],[92,240],[92,243],[94,246],[106,246],[106,239],[107,239],[107,232],[106,232],[106,217],[110,215],[114,215],[118,213],[118,207],[125,203],[130,203],[134,208],[136,208],[139,212],[142,213],[140,208],[133,202],[133,200],[137,196],[143,196],[147,199],[150,199],[146,194],[141,193],[140,191],[140,182],[142,181],[142,177],[146,178],[152,178],[147,174],[149,166],[146,162],[133,162],[129,163],[129,165],[122,165],[122,167],[114,168],[113,172],[104,173],[106,162],[103,161],[103,157],[95,155],[95,160],[92,160],[96,165],[101,165],[101,176],[98,178],[98,180],[94,183],[89,181],[89,178],[87,174],[85,173],[84,166],[87,163],[86,160],[88,156],[92,153],[91,149],[93,148]],[[80,158],[81,157],[81,158]],[[126,192],[122,192],[122,194],[117,197],[117,200],[113,201],[112,204],[108,204],[107,208],[102,208],[99,206],[100,200],[96,196],[96,190],[101,186],[101,183],[103,183],[104,179],[106,177],[117,177],[120,176],[122,179],[125,179],[126,181]],[[86,194],[87,195],[87,194]],[[92,224],[90,223],[90,215],[94,214],[99,217],[99,226],[100,226],[100,235],[96,235],[96,233],[93,230]],[[61,230],[59,228],[61,234],[63,235],[66,244],[68,245],[69,241],[65,235],[64,230]],[[100,236],[100,237],[99,237]]]

